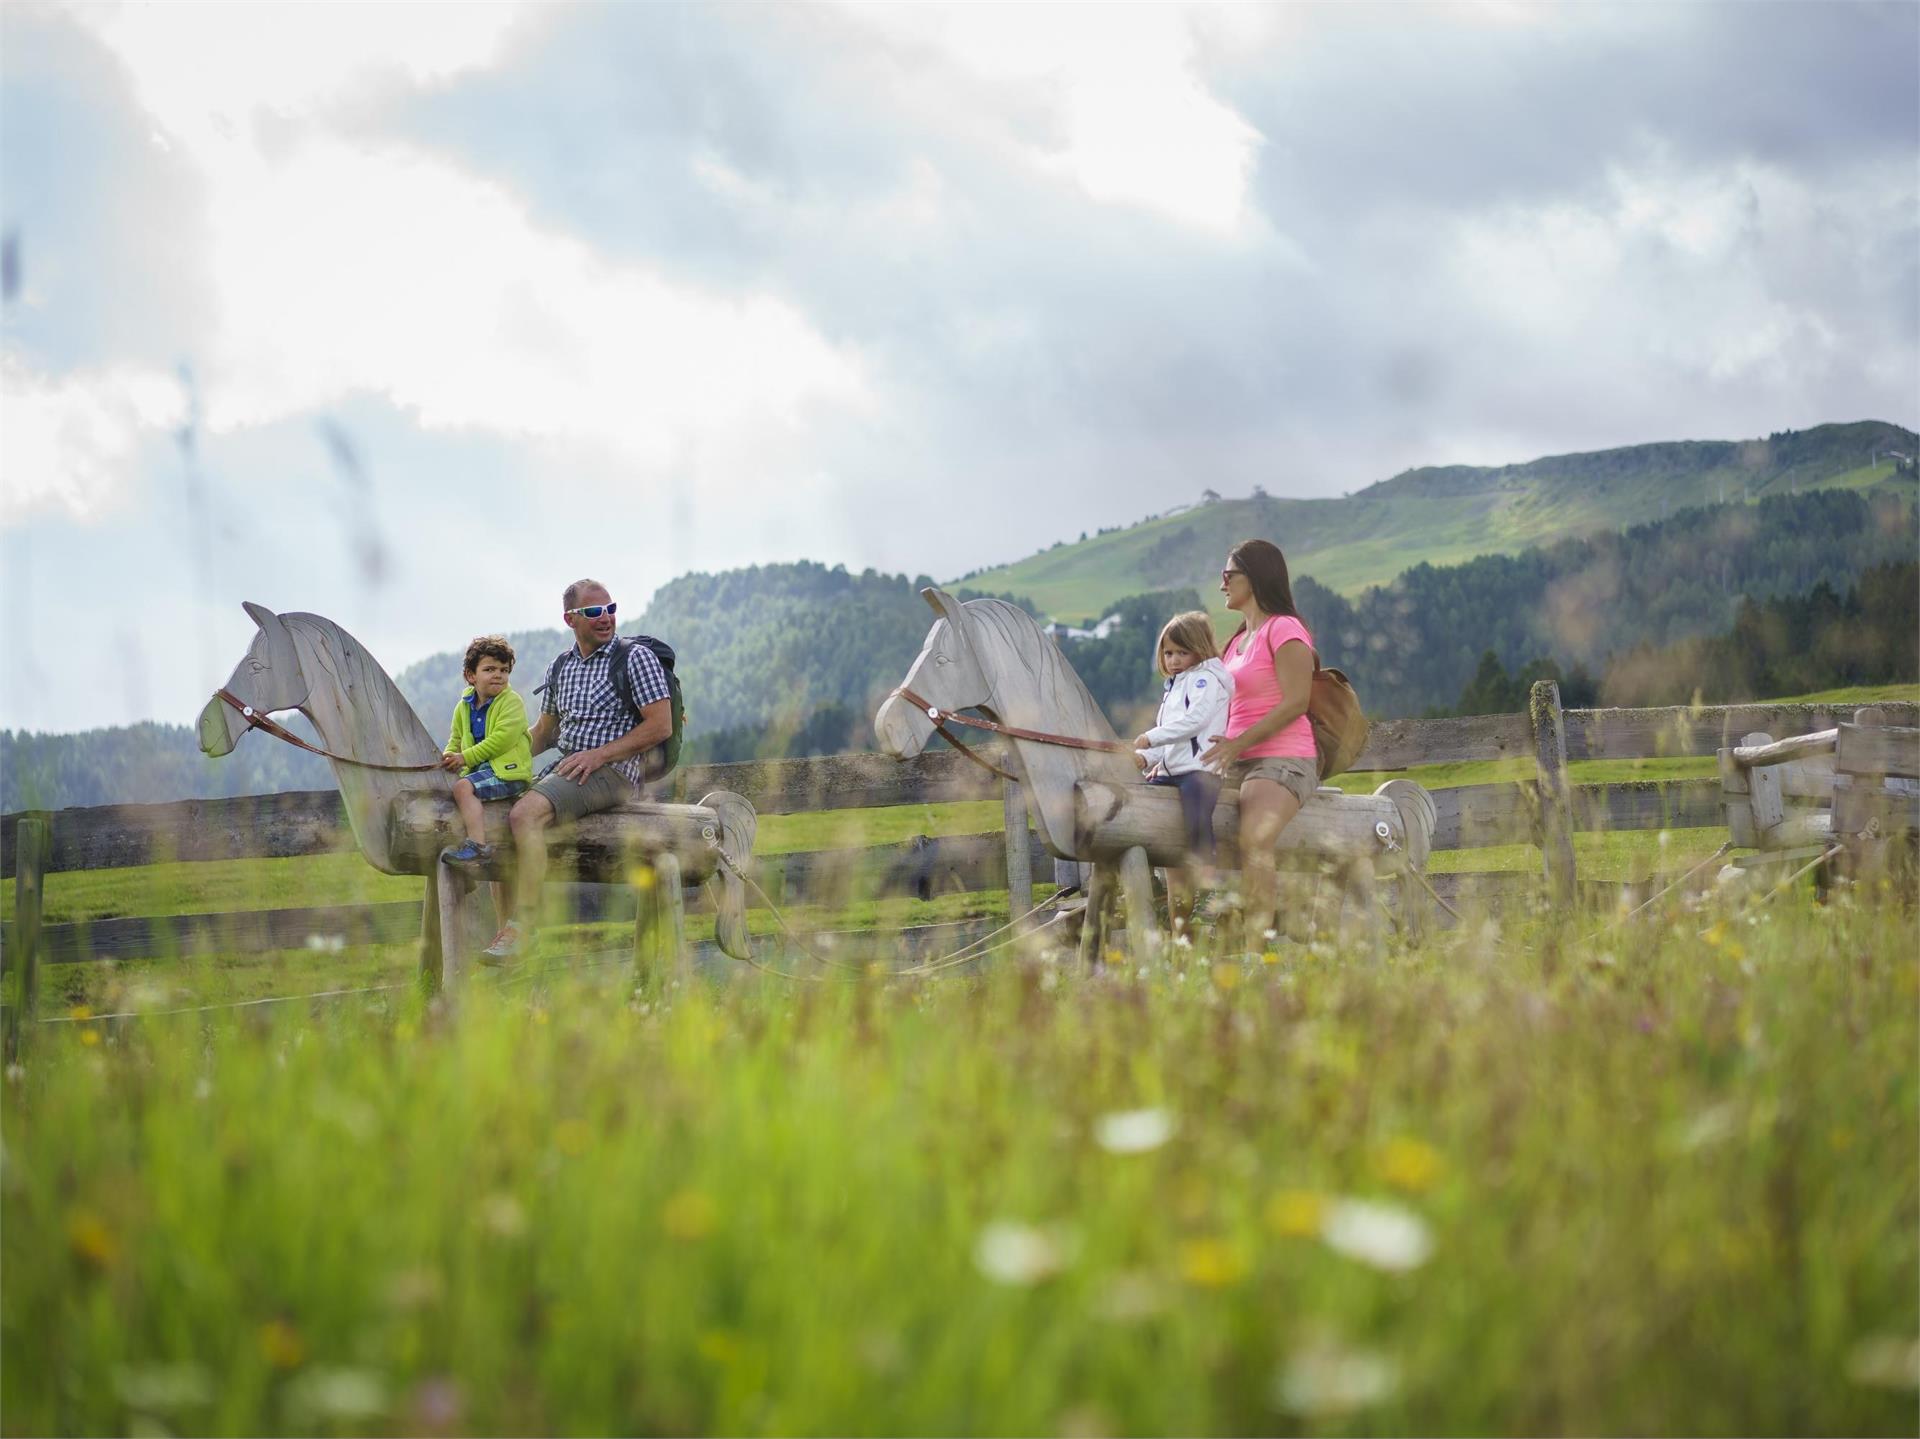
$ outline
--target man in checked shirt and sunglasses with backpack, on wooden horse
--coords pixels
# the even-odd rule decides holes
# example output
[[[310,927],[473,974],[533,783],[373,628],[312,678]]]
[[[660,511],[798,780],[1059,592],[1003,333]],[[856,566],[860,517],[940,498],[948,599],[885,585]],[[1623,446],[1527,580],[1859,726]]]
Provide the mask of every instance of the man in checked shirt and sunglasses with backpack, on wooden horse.
[[[513,828],[513,918],[482,955],[482,963],[515,961],[526,945],[520,916],[540,915],[540,888],[547,878],[547,828],[584,815],[614,809],[643,793],[659,768],[653,749],[674,732],[672,690],[666,671],[643,644],[614,646],[614,601],[599,580],[566,586],[563,619],[574,644],[553,665],[540,719],[528,740],[534,753],[559,745],[561,759],[520,795],[507,817]],[[614,686],[611,665],[626,665],[632,707]],[[634,711],[639,722],[634,722]]]

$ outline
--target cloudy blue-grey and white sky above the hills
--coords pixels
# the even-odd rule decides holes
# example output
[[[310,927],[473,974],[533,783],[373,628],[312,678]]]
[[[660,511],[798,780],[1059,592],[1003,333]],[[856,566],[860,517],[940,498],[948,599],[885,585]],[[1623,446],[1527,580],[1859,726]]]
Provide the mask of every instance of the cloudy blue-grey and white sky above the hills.
[[[1920,8],[0,8],[0,726],[1920,415]],[[1275,536],[1283,538],[1284,536]]]

